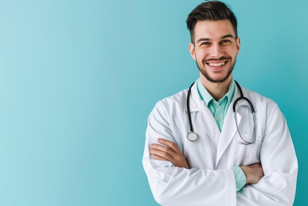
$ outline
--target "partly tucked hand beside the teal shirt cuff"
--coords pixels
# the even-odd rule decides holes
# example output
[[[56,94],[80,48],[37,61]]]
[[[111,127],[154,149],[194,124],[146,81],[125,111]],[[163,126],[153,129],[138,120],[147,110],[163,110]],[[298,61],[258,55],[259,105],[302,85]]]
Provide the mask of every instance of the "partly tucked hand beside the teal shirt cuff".
[[[256,184],[264,176],[260,163],[255,163],[249,166],[240,166],[246,176],[246,184]]]

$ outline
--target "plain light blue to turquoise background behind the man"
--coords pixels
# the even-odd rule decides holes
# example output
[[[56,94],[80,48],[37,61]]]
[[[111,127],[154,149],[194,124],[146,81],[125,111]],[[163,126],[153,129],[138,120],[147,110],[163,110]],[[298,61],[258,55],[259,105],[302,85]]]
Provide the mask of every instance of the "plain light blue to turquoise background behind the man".
[[[1,206],[157,205],[147,117],[198,78],[185,20],[201,2],[0,1]],[[284,113],[294,205],[308,205],[308,1],[226,2],[241,37],[234,77]]]

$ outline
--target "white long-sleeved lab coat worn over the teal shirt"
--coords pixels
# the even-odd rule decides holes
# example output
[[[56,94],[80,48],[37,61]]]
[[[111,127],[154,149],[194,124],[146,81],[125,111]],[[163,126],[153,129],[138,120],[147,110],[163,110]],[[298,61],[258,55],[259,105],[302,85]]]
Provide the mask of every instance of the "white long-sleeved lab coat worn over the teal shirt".
[[[242,87],[254,106],[257,140],[260,144],[238,144],[233,103],[240,97],[236,88],[221,133],[213,114],[192,86],[190,112],[198,140],[187,139],[188,89],[156,103],[148,118],[143,156],[144,170],[157,203],[162,206],[291,206],[295,197],[298,162],[286,120],[277,104]],[[239,104],[247,104],[240,101]],[[248,110],[246,110],[248,111]],[[240,117],[241,116],[241,117]],[[238,115],[239,128],[252,139],[251,113]],[[247,119],[250,118],[250,119]],[[243,132],[242,132],[243,131]],[[153,160],[151,143],[158,137],[176,142],[191,169],[169,161]],[[264,177],[236,192],[233,166],[261,163]]]

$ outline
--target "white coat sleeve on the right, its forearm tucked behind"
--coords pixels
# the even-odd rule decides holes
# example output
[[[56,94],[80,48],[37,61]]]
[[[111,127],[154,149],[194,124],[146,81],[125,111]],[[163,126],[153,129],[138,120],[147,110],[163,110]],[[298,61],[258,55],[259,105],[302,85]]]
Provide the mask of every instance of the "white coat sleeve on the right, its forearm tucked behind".
[[[237,205],[292,206],[298,162],[286,120],[276,103],[266,119],[260,161],[264,177],[237,193]]]

